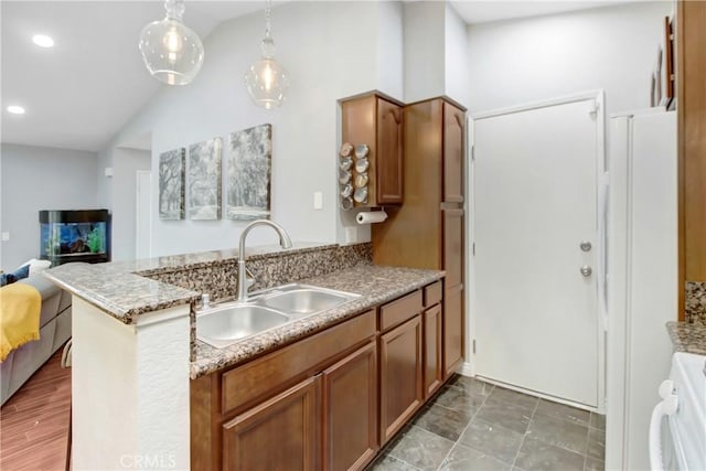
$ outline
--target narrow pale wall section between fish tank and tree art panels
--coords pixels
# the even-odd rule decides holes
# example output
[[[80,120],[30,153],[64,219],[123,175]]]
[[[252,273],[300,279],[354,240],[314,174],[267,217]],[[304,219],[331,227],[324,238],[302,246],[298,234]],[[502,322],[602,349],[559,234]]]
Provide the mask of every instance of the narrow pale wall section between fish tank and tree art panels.
[[[118,148],[113,159],[113,240],[111,258],[135,258],[137,171],[150,170],[150,151]]]

